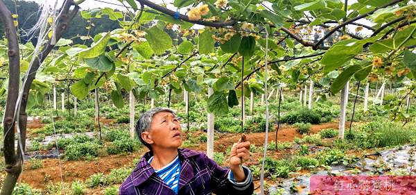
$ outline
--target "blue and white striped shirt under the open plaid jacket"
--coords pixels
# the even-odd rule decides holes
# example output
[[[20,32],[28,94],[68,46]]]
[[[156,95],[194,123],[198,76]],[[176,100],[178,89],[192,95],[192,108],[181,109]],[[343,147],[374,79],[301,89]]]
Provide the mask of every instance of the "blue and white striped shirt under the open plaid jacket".
[[[152,160],[153,156],[148,160],[148,163],[150,164]],[[159,178],[162,178],[166,185],[171,187],[175,194],[177,194],[180,176],[180,160],[178,156],[176,156],[176,158],[173,159],[172,162],[166,164],[165,167],[162,167],[162,169],[155,170],[155,173],[157,176],[159,176]]]

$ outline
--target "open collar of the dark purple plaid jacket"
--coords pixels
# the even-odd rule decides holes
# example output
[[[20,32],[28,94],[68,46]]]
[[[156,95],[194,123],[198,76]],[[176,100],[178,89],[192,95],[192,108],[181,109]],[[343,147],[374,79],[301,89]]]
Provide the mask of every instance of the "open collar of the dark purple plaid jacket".
[[[180,183],[182,183],[183,185],[184,183],[187,183],[189,180],[191,180],[191,178],[193,178],[193,171],[191,171],[192,167],[189,163],[189,158],[192,158],[193,156],[198,155],[200,153],[196,151],[191,151],[189,149],[177,149],[177,153],[182,164],[180,178],[182,178],[182,176],[184,178],[180,179]],[[141,157],[139,163],[137,163],[136,168],[132,171],[133,185],[141,185],[141,183],[144,183],[146,180],[148,180],[148,178],[150,178],[150,176],[155,174],[155,169],[153,169],[153,167],[150,166],[150,164],[148,164],[148,160],[152,156],[153,153],[149,151],[146,154],[144,154],[143,157]]]

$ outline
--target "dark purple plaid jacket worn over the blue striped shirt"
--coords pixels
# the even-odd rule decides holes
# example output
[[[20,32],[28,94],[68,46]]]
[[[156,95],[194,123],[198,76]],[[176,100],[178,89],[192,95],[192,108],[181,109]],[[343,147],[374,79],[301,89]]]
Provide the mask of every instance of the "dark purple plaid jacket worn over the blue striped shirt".
[[[189,149],[178,149],[178,153],[182,164],[178,194],[252,195],[254,185],[251,181],[251,173],[246,173],[246,176],[250,177],[248,185],[236,185],[227,178],[229,169],[218,166],[204,153]],[[148,152],[141,158],[137,167],[121,185],[120,195],[175,195],[175,192],[148,164],[147,161],[151,156],[152,154]]]

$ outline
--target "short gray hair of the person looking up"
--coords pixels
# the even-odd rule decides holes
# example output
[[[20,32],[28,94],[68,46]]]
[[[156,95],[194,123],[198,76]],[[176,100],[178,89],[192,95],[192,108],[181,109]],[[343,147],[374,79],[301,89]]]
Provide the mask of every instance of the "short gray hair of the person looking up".
[[[140,142],[144,144],[146,147],[148,147],[150,151],[152,150],[150,144],[148,144],[143,140],[143,138],[141,138],[141,133],[143,133],[145,130],[150,129],[150,124],[152,123],[153,116],[159,112],[171,112],[172,115],[176,115],[175,111],[171,110],[170,108],[156,107],[141,114],[136,122],[137,137],[139,137]]]

